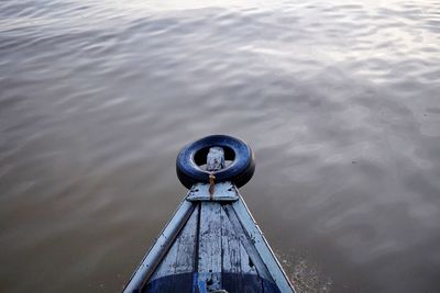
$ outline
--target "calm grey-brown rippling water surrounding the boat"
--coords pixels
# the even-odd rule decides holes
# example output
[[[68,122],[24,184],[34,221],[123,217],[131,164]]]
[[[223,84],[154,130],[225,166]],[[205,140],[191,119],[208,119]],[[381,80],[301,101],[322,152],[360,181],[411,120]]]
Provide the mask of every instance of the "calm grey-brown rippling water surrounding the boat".
[[[0,291],[120,291],[220,133],[305,291],[439,292],[440,2],[0,2]]]

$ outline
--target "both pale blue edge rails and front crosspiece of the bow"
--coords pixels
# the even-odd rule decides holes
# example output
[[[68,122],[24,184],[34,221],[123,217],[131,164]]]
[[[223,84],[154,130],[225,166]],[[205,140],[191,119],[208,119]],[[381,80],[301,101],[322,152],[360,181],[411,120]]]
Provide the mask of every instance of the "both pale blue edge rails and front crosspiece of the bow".
[[[226,189],[224,183],[231,184],[232,189]],[[261,259],[262,263],[260,266],[261,273],[265,274],[268,273],[271,279],[275,282],[278,286],[280,292],[292,292],[295,293],[295,289],[290,283],[289,279],[287,278],[286,272],[283,270],[279,261],[275,257],[274,251],[272,250],[271,246],[268,245],[267,240],[265,239],[260,226],[256,224],[254,217],[252,216],[248,205],[245,204],[243,198],[241,196],[240,192],[238,191],[237,187],[231,182],[222,182],[218,183],[221,184],[221,188],[216,189],[219,193],[221,191],[226,191],[227,193],[234,193],[237,196],[235,201],[224,202],[221,200],[216,200],[216,196],[212,196],[212,201],[207,201],[207,196],[200,196],[197,199],[189,199],[190,192],[188,191],[187,195],[178,205],[177,210],[167,222],[163,230],[161,232],[160,236],[156,238],[154,244],[150,247],[145,256],[143,257],[141,263],[138,266],[136,270],[131,275],[129,282],[127,283],[123,292],[140,292],[144,285],[150,281],[153,273],[157,269],[158,264],[161,263],[162,259],[166,256],[170,247],[173,246],[176,237],[179,235],[180,230],[186,226],[187,221],[197,209],[198,204],[201,202],[212,202],[212,203],[220,203],[221,205],[227,206],[226,211],[230,210],[230,213],[233,213],[233,217],[237,217],[235,225],[240,225],[238,228],[243,229],[245,237],[248,238],[246,241],[251,241],[252,246],[256,250],[256,258]],[[216,184],[216,187],[218,185]],[[209,184],[200,190],[208,190]],[[197,187],[200,187],[198,184]],[[221,196],[220,196],[221,198]],[[219,198],[219,199],[220,199]],[[232,199],[231,195],[227,196]],[[238,223],[237,223],[238,222]],[[196,245],[197,247],[198,245]],[[255,250],[251,249],[249,255],[255,255]],[[197,251],[197,250],[196,250]],[[250,253],[251,252],[251,253]],[[197,261],[198,258],[196,258]],[[197,272],[196,272],[197,273]]]

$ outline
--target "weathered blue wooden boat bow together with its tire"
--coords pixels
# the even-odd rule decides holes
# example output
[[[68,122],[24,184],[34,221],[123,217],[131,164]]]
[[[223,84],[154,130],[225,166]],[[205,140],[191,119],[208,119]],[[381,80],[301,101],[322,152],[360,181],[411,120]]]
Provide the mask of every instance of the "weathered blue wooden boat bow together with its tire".
[[[251,164],[237,173],[234,161],[244,158],[231,139],[238,140],[209,136],[180,151],[179,179],[191,188],[123,292],[295,292],[238,191],[238,185],[252,177],[252,150],[246,155],[252,157]],[[200,142],[204,144],[197,144]],[[190,154],[183,155],[188,148]],[[208,170],[190,166],[206,176],[194,183],[191,180],[200,179],[180,168],[179,160],[189,156],[189,165],[196,164],[200,151],[208,157]],[[224,154],[232,154],[232,168],[226,167]],[[221,170],[228,174],[218,182],[216,174]]]

